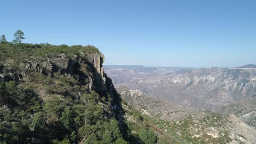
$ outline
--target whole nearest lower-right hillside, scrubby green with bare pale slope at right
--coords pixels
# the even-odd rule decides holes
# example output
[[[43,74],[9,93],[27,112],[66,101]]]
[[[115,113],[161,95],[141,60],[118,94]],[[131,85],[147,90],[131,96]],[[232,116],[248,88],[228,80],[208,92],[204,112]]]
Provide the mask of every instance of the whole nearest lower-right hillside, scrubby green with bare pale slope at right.
[[[183,119],[166,121],[149,116],[136,107],[124,104],[125,119],[133,137],[154,140],[149,134],[156,131],[157,143],[255,143],[256,131],[236,116],[221,116],[200,111],[186,113]],[[174,115],[176,112],[173,112]],[[144,134],[148,138],[143,138]]]

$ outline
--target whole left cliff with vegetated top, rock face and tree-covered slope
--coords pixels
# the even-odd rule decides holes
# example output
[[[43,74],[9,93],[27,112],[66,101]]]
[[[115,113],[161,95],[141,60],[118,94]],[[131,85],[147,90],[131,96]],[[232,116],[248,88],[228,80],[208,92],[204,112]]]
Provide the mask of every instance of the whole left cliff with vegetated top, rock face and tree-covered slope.
[[[0,44],[0,143],[127,143],[94,46]]]

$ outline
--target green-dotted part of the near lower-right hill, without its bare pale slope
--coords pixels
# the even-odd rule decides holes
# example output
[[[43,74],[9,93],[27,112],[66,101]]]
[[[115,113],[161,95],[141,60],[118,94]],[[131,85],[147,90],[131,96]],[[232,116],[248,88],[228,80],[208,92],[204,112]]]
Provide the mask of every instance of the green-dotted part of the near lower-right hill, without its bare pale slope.
[[[221,128],[226,121],[217,113],[201,111],[188,114],[179,121],[167,122],[158,116],[143,115],[132,106],[126,106],[125,110],[126,123],[132,131],[131,135],[144,143],[150,143],[150,140],[156,140],[157,143],[229,143],[232,141],[228,131],[219,130],[218,137],[208,135],[212,127]],[[156,139],[152,138],[154,136]]]

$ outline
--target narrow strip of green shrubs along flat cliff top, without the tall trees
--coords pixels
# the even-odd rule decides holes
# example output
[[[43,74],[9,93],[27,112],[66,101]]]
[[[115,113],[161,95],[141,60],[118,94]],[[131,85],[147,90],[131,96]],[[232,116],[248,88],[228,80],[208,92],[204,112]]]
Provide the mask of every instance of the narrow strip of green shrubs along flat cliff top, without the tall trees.
[[[12,44],[8,42],[6,44],[0,45],[1,60],[4,60],[4,58],[15,58],[14,61],[16,62],[19,62],[19,60],[23,60],[31,56],[54,57],[59,53],[66,53],[68,56],[73,57],[74,55],[78,55],[81,52],[100,53],[100,51],[98,51],[96,47],[91,45],[56,46],[51,44]]]

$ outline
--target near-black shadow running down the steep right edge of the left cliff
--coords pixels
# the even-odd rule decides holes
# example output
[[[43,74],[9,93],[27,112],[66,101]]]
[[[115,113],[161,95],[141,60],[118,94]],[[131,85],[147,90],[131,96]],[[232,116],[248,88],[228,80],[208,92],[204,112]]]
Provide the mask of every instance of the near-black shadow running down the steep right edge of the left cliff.
[[[127,124],[124,122],[124,110],[121,105],[121,96],[118,94],[117,90],[115,89],[112,80],[107,74],[100,74],[96,69],[96,64],[93,63],[94,59],[92,59],[92,63],[89,59],[83,59],[85,64],[87,65],[86,70],[82,70],[82,63],[75,63],[74,75],[78,75],[77,79],[83,84],[88,85],[88,91],[95,91],[98,93],[101,98],[105,98],[106,101],[111,101],[111,111],[112,116],[115,117],[119,122],[119,130],[123,135],[123,139],[132,143],[143,143],[138,141],[138,136],[132,136],[131,131],[128,128]],[[102,59],[100,59],[100,68],[102,67]],[[101,71],[102,69],[100,69]],[[86,73],[86,71],[90,71],[91,73]],[[91,79],[91,84],[90,84]],[[87,81],[88,80],[88,81]],[[91,86],[90,86],[91,85]],[[107,102],[101,100],[101,103],[107,104]]]

